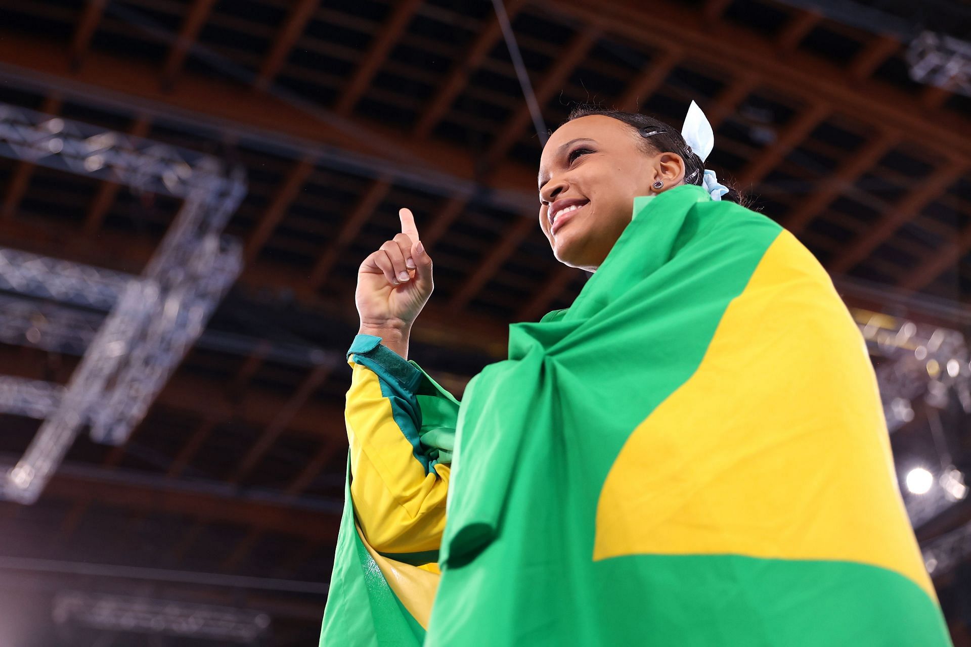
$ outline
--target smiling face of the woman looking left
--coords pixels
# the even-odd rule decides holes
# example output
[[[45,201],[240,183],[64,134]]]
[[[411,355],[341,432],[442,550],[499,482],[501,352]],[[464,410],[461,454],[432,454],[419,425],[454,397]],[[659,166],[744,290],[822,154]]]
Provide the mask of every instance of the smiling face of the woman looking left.
[[[540,227],[556,260],[596,270],[630,223],[634,198],[650,194],[655,179],[668,184],[665,155],[646,153],[636,130],[603,114],[560,126],[543,148],[539,173]]]

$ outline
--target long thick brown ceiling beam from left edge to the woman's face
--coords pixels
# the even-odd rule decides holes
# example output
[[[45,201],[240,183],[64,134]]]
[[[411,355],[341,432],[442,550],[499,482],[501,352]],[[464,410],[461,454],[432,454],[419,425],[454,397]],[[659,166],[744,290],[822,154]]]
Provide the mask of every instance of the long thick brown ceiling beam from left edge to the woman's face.
[[[163,92],[150,65],[98,51],[89,52],[84,66],[75,72],[62,47],[17,33],[0,31],[0,36],[0,72],[7,67],[27,80],[24,82],[56,85],[65,98],[95,106],[101,102],[123,105],[166,122],[188,120],[225,135],[256,138],[268,146],[288,149],[295,157],[333,153],[336,147],[350,155],[380,160],[382,173],[409,180],[420,177],[429,186],[448,187],[443,192],[478,186],[503,204],[528,205],[534,199],[536,169],[523,164],[503,164],[485,182],[480,178],[479,156],[458,146],[433,139],[419,143],[376,122],[351,117],[334,121],[269,93],[254,94],[238,83],[191,73],[183,74],[178,85]]]

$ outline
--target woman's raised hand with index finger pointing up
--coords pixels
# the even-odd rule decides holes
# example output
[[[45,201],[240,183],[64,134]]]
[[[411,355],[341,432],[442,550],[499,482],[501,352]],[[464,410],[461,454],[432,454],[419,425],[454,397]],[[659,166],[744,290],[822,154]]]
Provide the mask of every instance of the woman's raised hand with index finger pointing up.
[[[415,216],[409,209],[398,215],[401,233],[361,263],[354,301],[361,332],[381,337],[397,332],[407,338],[434,285],[431,258],[419,240]]]

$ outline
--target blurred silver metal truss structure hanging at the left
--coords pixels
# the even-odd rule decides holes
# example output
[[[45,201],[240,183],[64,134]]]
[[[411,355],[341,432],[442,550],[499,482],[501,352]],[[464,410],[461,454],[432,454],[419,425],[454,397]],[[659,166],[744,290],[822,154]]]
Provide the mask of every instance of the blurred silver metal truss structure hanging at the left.
[[[199,338],[242,269],[241,245],[220,234],[246,195],[246,182],[241,169],[227,170],[209,155],[5,104],[0,155],[183,199],[141,276],[0,250],[0,290],[20,300],[3,299],[12,307],[0,317],[0,340],[84,347],[58,404],[0,488],[3,498],[30,503],[84,425],[94,440],[123,442]],[[110,312],[95,327],[97,313],[50,307],[46,316],[24,297]],[[0,383],[4,389],[13,395],[0,396],[0,406],[17,394],[36,400],[44,391],[14,382]],[[36,414],[42,405],[21,408]]]

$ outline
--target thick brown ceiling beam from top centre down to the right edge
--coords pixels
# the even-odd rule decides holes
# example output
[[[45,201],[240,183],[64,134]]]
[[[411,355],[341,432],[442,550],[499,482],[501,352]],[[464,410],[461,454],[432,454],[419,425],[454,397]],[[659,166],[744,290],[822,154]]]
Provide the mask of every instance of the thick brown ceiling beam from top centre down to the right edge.
[[[596,20],[619,35],[653,47],[684,47],[693,60],[734,74],[753,73],[759,82],[807,102],[825,102],[864,123],[880,122],[908,132],[926,146],[971,156],[968,119],[946,111],[928,112],[909,93],[876,79],[849,81],[847,71],[820,56],[792,51],[778,55],[776,44],[753,30],[722,22],[706,28],[697,11],[669,0],[544,0],[553,13]]]

